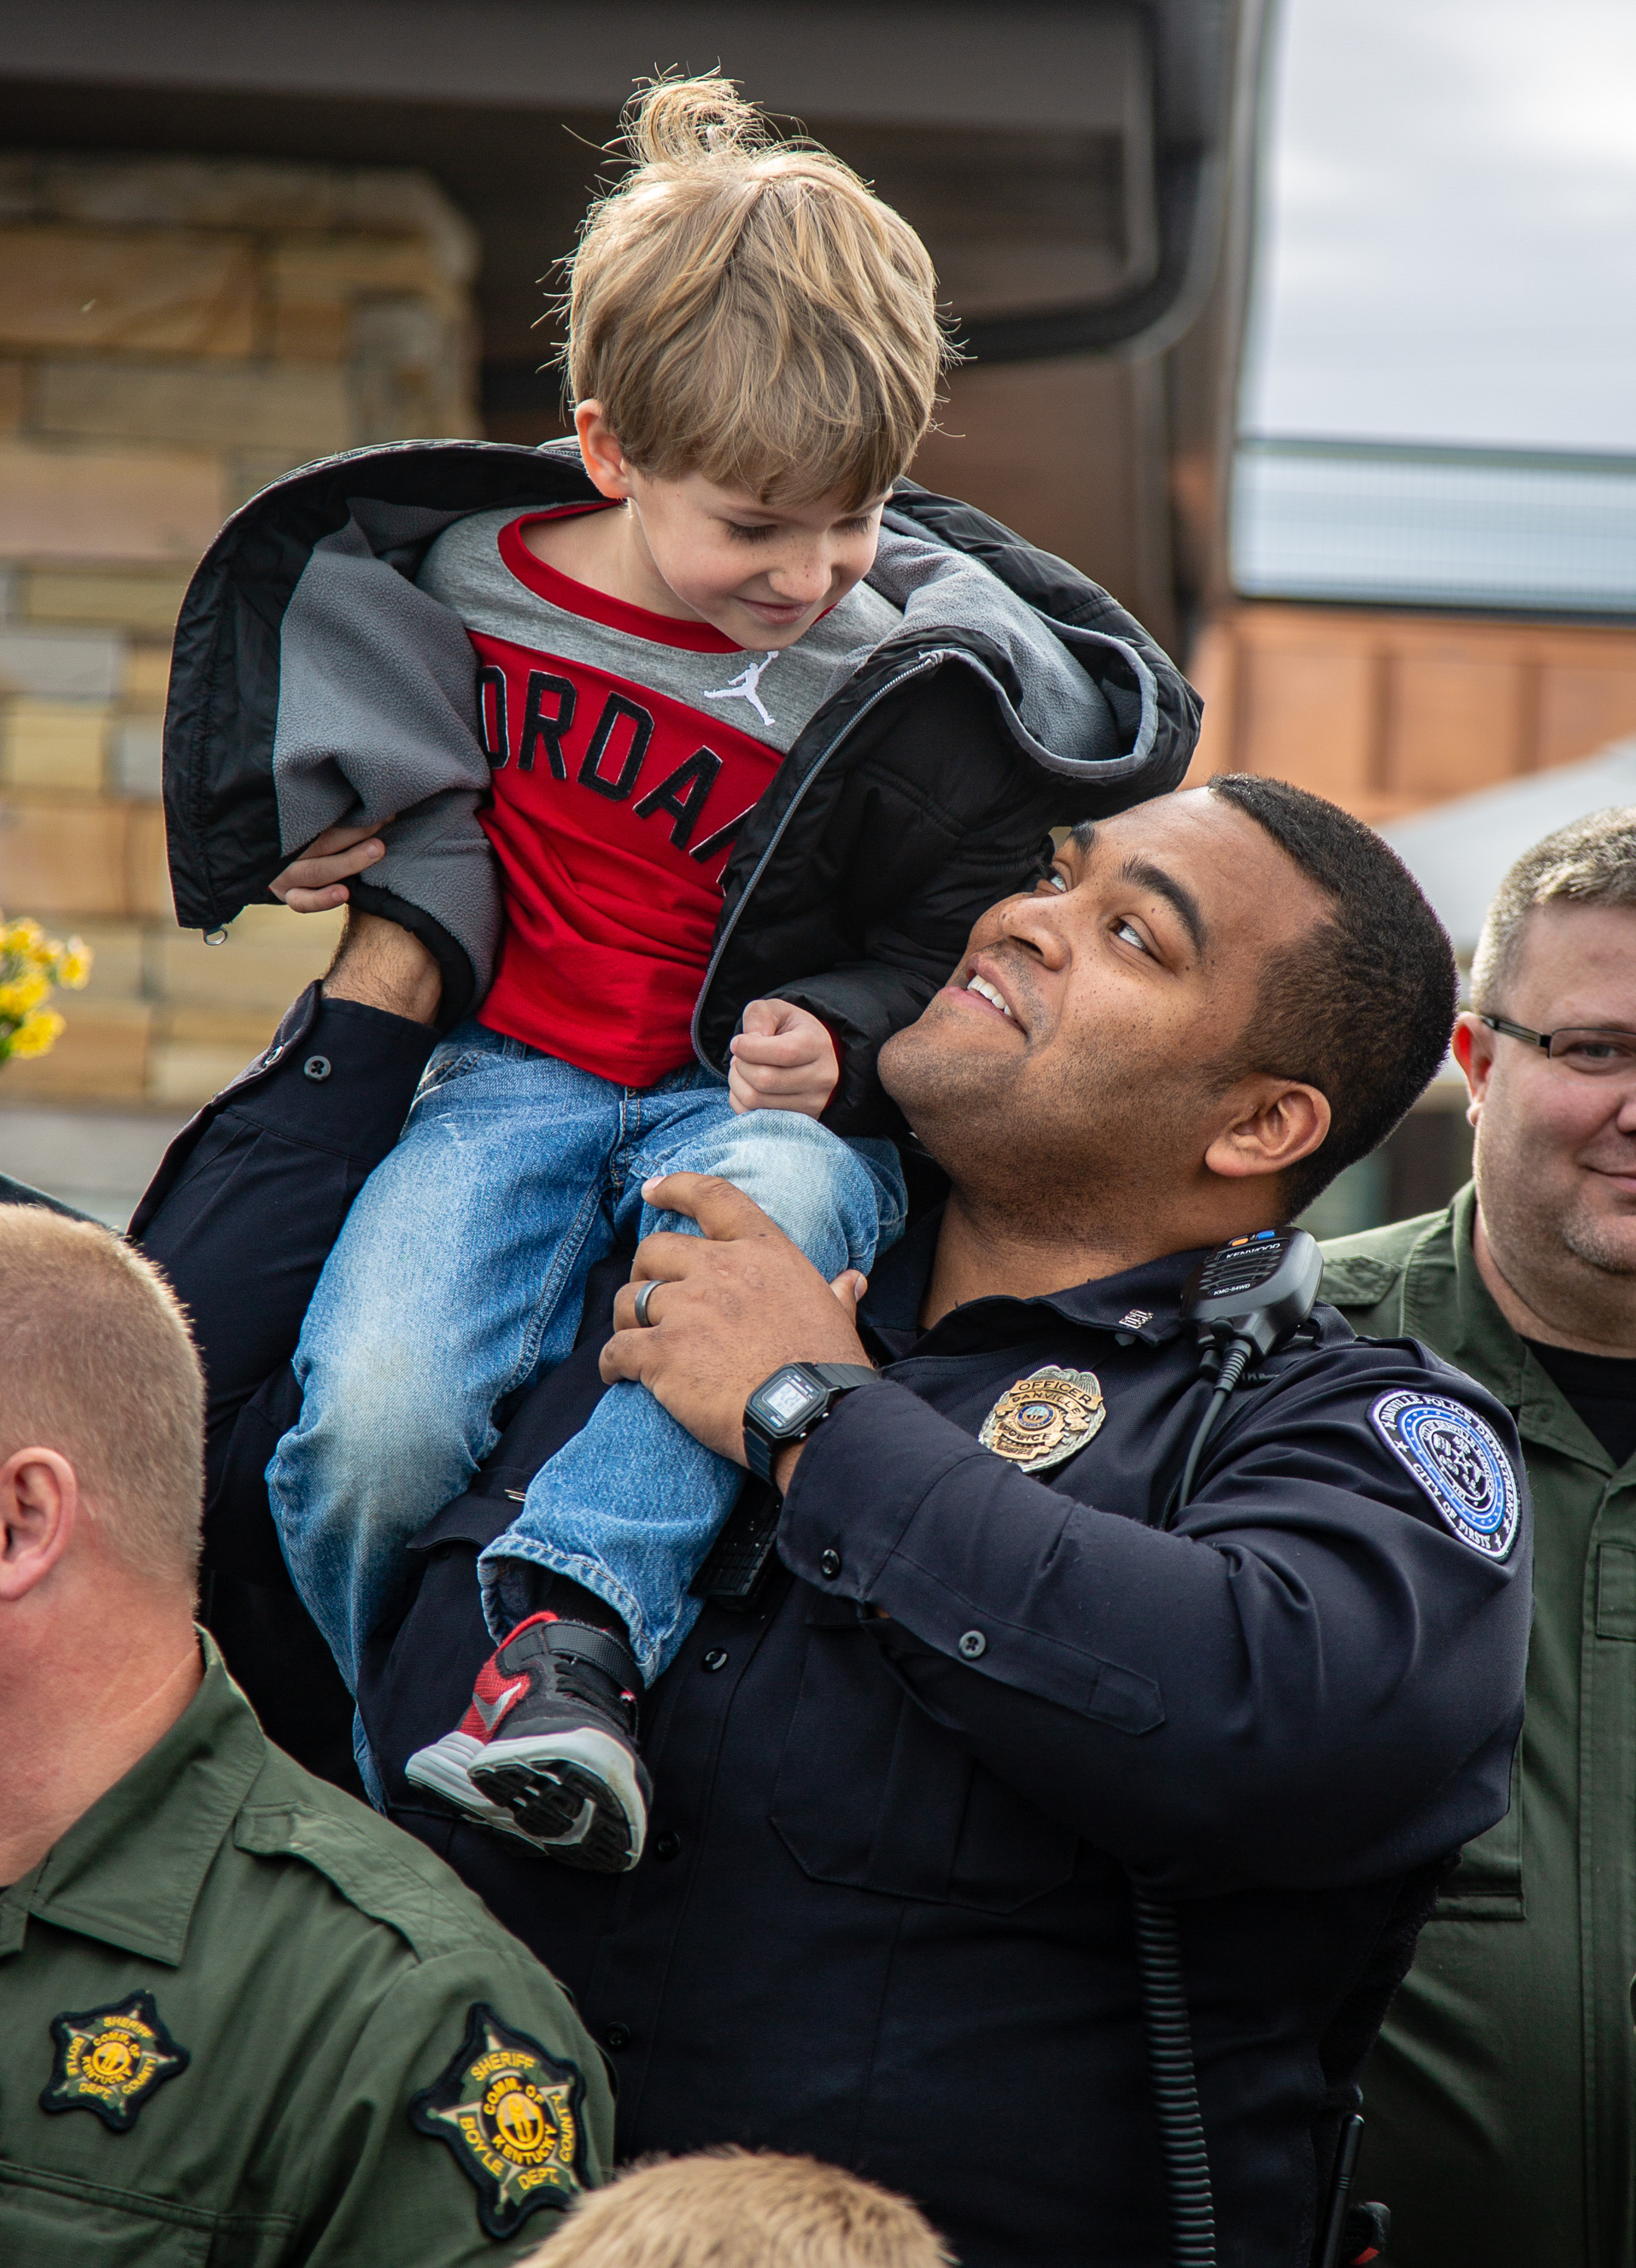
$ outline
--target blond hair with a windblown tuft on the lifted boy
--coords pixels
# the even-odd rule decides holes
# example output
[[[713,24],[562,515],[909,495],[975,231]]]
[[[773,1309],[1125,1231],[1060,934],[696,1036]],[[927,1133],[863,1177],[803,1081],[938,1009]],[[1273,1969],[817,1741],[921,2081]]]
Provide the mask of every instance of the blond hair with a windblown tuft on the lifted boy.
[[[624,147],[567,263],[574,401],[660,481],[846,510],[885,494],[953,361],[914,229],[731,79],[642,88]]]

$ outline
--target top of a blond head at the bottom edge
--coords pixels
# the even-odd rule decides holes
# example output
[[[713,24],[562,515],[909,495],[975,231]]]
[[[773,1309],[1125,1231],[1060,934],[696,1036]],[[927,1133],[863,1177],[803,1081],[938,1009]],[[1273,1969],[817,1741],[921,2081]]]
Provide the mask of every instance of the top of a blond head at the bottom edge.
[[[701,2150],[592,2189],[529,2268],[951,2268],[887,2189],[812,2157]]]

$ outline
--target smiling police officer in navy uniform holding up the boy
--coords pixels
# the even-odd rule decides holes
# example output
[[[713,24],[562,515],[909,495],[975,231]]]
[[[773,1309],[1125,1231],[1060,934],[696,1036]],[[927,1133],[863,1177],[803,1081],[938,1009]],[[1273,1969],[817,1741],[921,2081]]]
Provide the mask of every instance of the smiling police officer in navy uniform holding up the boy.
[[[474,1551],[594,1345],[424,1533],[361,1685],[397,1817],[613,2053],[622,2152],[855,2166],[967,2268],[1162,2261],[1135,1885],[1175,1914],[1221,2257],[1305,2268],[1416,1928],[1507,1805],[1527,1501],[1493,1397],[1321,1306],[1178,1513],[1212,1402],[1182,1293],[1386,1134],[1452,1007],[1371,830],[1218,778],[1071,837],[889,1043],[951,1186],[855,1315],[735,1191],[665,1184],[706,1241],[640,1247],[601,1374],[783,1510],[781,1565],[749,1603],[706,1567],[649,1696],[642,1867],[574,1876],[402,1778],[492,1644]],[[787,1365],[826,1365],[806,1404]]]

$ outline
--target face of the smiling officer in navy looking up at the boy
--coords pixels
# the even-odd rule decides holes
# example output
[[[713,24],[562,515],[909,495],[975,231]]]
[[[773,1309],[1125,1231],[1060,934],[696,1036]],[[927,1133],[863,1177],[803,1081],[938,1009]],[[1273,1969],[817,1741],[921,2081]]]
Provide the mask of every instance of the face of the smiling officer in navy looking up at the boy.
[[[1323,916],[1243,812],[1159,796],[1080,830],[978,921],[883,1050],[883,1084],[958,1182],[1005,1173],[1042,1216],[1091,1173],[1141,1202],[1198,1184],[1264,962]]]

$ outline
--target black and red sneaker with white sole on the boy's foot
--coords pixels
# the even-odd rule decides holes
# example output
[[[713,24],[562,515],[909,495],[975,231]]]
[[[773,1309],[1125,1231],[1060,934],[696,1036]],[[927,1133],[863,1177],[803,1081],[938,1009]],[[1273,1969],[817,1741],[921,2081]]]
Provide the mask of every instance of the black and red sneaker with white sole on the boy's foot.
[[[458,1730],[418,1749],[406,1776],[565,1867],[624,1873],[653,1796],[635,1751],[640,1690],[613,1631],[529,1615],[479,1669]]]

